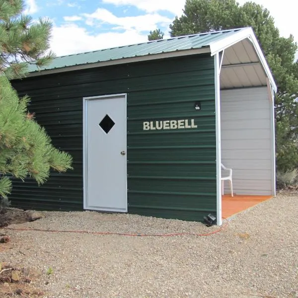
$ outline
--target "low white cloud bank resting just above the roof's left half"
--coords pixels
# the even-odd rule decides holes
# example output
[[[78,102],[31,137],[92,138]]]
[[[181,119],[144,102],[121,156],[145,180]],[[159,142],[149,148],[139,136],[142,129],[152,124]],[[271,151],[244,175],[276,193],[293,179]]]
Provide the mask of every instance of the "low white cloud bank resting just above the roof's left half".
[[[63,56],[146,41],[147,35],[140,34],[136,30],[92,35],[85,28],[69,24],[53,27],[51,50],[57,56]]]

